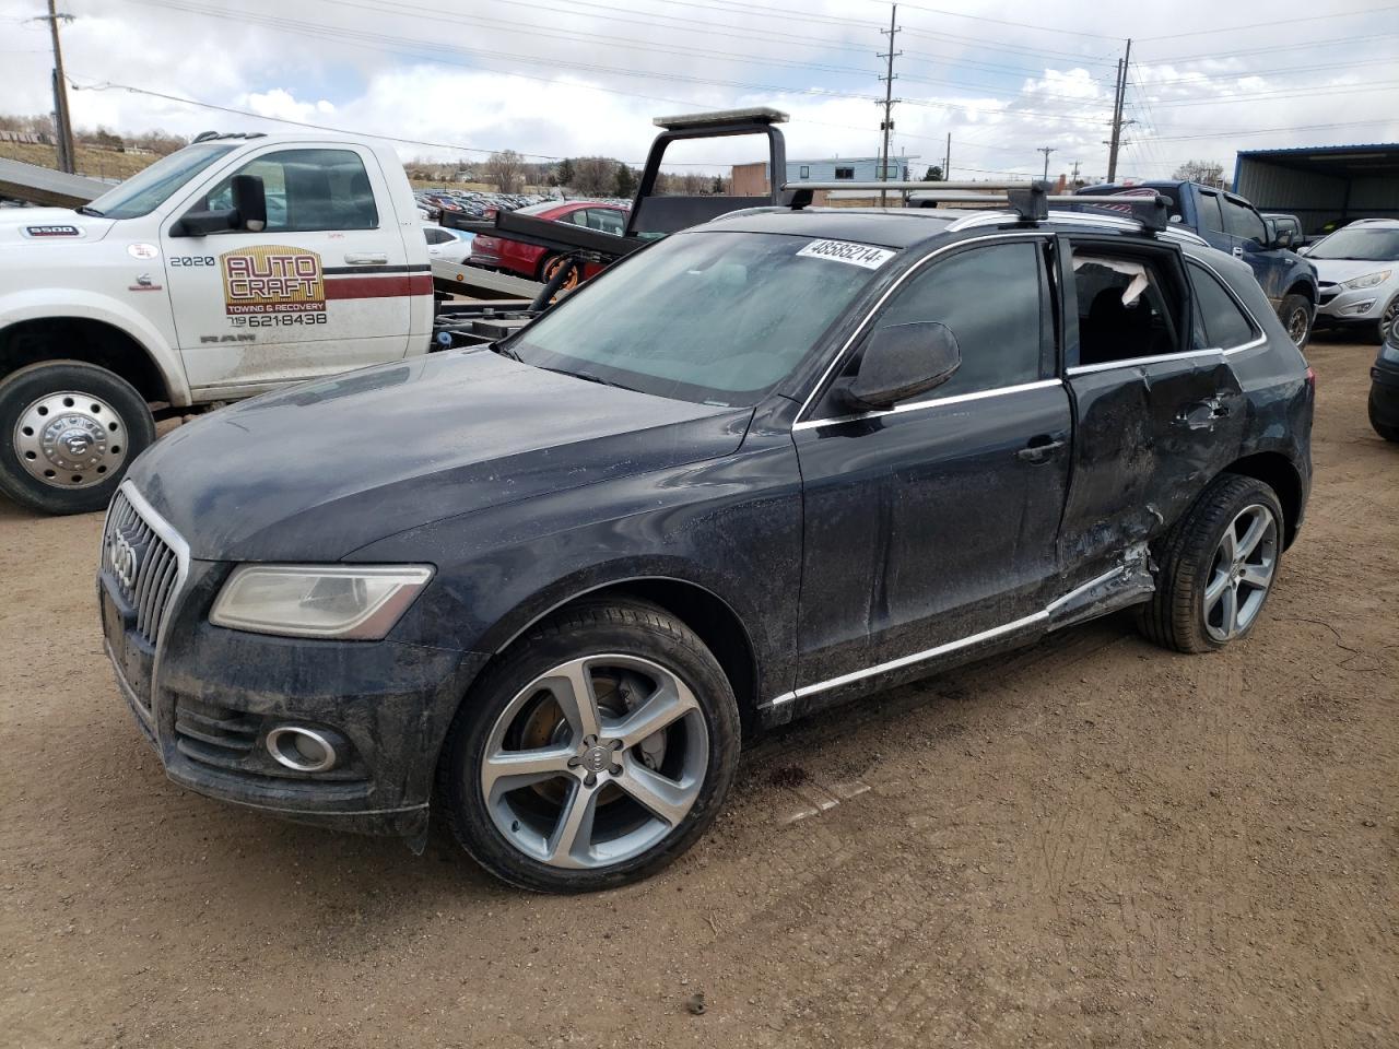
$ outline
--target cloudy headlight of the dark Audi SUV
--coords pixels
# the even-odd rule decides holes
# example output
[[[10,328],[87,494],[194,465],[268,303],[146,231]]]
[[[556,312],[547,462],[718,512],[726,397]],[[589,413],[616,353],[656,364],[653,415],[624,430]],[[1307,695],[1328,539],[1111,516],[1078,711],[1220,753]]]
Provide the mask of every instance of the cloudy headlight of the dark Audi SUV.
[[[256,634],[376,641],[431,578],[425,565],[241,565],[208,621]]]

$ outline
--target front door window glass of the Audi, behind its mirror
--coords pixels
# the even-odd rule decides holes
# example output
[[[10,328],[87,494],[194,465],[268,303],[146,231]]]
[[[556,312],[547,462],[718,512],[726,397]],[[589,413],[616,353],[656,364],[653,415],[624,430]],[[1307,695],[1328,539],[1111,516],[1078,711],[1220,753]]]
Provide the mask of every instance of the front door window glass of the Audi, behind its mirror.
[[[1039,379],[1048,302],[1041,245],[974,248],[935,262],[887,305],[874,327],[936,320],[951,329],[963,362],[922,397],[956,397]]]

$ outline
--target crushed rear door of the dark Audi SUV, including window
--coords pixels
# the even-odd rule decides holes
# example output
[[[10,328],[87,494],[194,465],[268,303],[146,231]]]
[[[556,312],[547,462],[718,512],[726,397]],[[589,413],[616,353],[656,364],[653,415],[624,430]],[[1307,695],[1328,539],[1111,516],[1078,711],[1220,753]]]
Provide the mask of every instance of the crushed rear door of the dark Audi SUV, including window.
[[[1185,512],[1237,457],[1247,406],[1195,322],[1178,248],[1069,243],[1066,378],[1077,425],[1059,545],[1074,579],[1111,569]]]

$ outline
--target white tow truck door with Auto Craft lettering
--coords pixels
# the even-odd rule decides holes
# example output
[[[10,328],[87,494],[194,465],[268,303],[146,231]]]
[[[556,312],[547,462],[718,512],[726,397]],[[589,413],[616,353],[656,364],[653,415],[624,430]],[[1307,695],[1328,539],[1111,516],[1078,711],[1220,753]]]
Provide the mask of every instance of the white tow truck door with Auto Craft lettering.
[[[231,206],[234,175],[262,179],[266,228],[178,235],[186,211]],[[397,359],[410,295],[432,292],[427,267],[409,266],[378,159],[354,145],[270,147],[176,210],[162,241],[196,392],[248,393]]]

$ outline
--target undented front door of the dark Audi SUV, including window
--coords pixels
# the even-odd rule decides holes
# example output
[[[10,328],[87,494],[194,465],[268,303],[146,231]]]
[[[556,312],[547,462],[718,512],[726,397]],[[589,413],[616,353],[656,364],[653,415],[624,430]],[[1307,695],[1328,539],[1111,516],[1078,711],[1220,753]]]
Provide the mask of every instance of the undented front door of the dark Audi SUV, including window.
[[[797,422],[799,692],[860,687],[1044,608],[1070,438],[1046,252],[999,236],[925,263],[869,330],[940,322],[958,371],[887,411],[852,413],[832,390]]]

